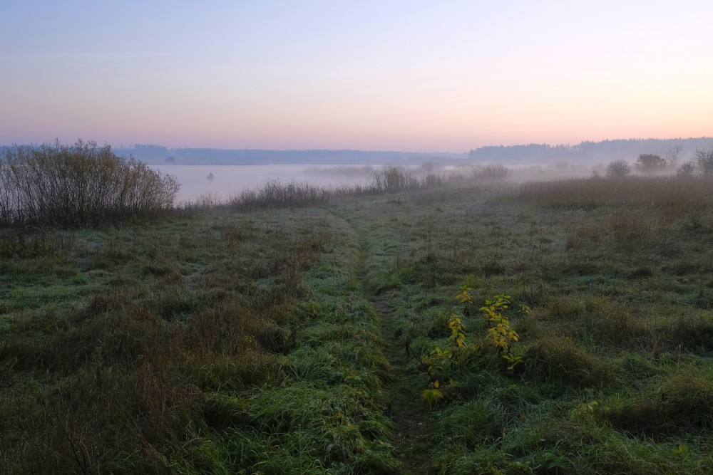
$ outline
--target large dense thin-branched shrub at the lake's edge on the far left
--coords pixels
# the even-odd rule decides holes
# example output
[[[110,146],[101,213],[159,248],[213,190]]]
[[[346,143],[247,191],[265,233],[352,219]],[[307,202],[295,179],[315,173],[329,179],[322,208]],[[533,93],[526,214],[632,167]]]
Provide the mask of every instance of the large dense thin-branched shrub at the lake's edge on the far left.
[[[179,187],[96,142],[8,150],[0,160],[0,226],[145,217],[173,207]]]

